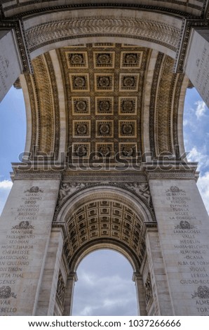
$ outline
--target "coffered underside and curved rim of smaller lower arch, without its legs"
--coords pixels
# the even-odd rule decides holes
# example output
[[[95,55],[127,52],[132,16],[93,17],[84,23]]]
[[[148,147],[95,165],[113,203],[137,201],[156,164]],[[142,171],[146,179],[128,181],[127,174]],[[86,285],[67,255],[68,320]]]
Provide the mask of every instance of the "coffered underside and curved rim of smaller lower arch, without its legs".
[[[70,270],[74,272],[90,251],[103,247],[123,253],[139,271],[145,253],[146,224],[156,225],[149,220],[147,206],[141,204],[132,200],[131,194],[112,187],[89,190],[69,199],[53,226],[65,223],[64,251]]]

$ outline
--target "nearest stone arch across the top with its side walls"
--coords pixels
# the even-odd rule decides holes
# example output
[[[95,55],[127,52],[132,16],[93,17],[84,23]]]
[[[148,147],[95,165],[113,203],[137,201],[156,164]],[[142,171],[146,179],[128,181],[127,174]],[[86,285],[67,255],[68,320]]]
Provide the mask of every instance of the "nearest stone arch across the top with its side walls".
[[[53,3],[52,3],[53,4]],[[208,71],[208,6],[175,1],[156,6],[144,4],[72,4],[34,8],[1,7],[1,98],[20,73],[32,72],[31,59],[41,53],[69,44],[120,42],[154,48],[175,58],[175,72],[186,72],[203,99]],[[115,7],[115,8],[114,8]],[[79,8],[79,10],[77,9]],[[82,9],[82,10],[81,10]],[[21,20],[20,20],[21,17]],[[202,30],[202,32],[201,32]],[[15,37],[14,37],[15,35]],[[130,39],[132,40],[130,42]],[[18,45],[17,45],[18,41]],[[12,45],[13,58],[11,58]],[[199,51],[194,57],[198,43]],[[205,51],[204,51],[205,49]],[[6,56],[6,57],[5,57]],[[199,67],[196,63],[202,62]],[[13,64],[9,64],[12,62]],[[195,67],[195,74],[191,67]],[[195,77],[198,79],[195,79]],[[201,82],[202,81],[202,82]]]

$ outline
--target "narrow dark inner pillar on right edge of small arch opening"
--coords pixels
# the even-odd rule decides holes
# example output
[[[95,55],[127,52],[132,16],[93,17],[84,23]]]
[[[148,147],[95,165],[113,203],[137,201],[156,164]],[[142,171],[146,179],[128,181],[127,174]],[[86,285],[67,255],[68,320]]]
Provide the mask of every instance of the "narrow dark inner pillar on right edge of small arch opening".
[[[133,273],[133,282],[135,282],[136,291],[137,291],[138,314],[141,316],[147,315],[146,298],[144,295],[144,285],[143,285],[142,275],[140,275],[139,272]]]

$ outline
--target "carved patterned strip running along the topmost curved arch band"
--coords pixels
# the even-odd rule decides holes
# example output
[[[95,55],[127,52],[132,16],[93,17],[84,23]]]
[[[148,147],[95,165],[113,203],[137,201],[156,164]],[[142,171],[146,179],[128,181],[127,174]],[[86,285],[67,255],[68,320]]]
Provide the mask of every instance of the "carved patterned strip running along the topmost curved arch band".
[[[30,52],[56,41],[95,35],[129,36],[177,51],[180,29],[154,20],[100,16],[46,22],[26,30]]]

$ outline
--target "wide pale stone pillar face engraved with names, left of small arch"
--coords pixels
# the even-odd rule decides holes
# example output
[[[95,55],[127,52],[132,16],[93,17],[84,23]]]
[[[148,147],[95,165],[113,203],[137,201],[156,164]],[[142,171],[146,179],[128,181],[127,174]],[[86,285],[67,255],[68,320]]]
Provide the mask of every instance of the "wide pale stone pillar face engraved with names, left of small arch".
[[[55,171],[14,180],[0,220],[0,315],[35,315],[59,187]]]

